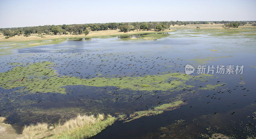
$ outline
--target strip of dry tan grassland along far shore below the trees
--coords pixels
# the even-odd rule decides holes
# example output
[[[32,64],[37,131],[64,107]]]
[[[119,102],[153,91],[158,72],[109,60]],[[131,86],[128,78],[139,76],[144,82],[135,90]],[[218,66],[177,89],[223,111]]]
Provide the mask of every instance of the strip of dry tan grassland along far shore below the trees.
[[[25,37],[23,35],[14,37],[10,37],[8,39],[5,39],[5,36],[3,34],[0,35],[0,43],[1,42],[30,42],[30,41],[45,41],[45,40],[57,40],[57,39],[73,39],[73,38],[94,38],[94,37],[108,37],[108,36],[117,36],[117,35],[134,35],[134,34],[153,34],[153,33],[165,33],[165,32],[173,32],[180,29],[196,29],[196,27],[200,27],[200,29],[220,29],[220,30],[237,30],[237,29],[243,29],[243,28],[253,28],[256,29],[254,26],[239,26],[238,28],[223,28],[222,25],[224,24],[188,24],[186,26],[184,25],[175,25],[170,26],[168,30],[164,31],[151,31],[151,30],[135,30],[135,31],[129,31],[129,32],[120,32],[119,29],[116,30],[100,30],[100,31],[90,31],[88,35],[43,35],[43,37],[39,36],[38,34],[31,34],[28,37]],[[199,29],[198,29],[199,30]]]

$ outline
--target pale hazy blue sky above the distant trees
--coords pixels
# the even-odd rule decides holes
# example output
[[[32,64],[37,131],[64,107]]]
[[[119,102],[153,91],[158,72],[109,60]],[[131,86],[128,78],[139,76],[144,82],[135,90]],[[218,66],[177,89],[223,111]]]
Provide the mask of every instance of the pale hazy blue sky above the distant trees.
[[[0,0],[0,28],[141,21],[256,20],[256,0]]]

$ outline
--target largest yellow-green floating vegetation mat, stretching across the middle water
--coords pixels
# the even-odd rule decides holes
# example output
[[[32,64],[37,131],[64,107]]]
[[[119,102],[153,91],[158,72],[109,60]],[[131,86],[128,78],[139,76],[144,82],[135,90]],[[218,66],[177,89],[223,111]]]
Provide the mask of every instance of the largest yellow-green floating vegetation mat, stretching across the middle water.
[[[1,87],[4,89],[25,87],[24,91],[29,91],[30,93],[66,93],[66,89],[62,87],[67,85],[94,87],[117,86],[121,89],[145,91],[178,91],[184,87],[193,87],[192,85],[186,84],[186,81],[190,80],[192,76],[182,73],[146,75],[145,77],[94,77],[91,79],[83,79],[74,76],[59,76],[58,73],[52,69],[53,66],[54,63],[49,61],[16,66],[12,70],[0,73]],[[207,76],[210,75],[200,75],[201,78]],[[195,76],[194,78],[199,78],[199,76]]]

